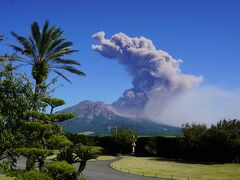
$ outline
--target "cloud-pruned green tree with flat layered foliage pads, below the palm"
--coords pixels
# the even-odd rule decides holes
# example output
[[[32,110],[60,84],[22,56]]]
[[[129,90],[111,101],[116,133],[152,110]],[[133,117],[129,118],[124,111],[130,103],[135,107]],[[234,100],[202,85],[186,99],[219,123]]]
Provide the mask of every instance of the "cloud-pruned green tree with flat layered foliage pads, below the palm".
[[[22,127],[27,142],[25,147],[32,150],[21,151],[24,153],[22,155],[27,157],[26,170],[33,169],[35,163],[39,162],[39,170],[42,171],[47,154],[39,154],[39,152],[45,152],[44,150],[48,152],[47,148],[66,148],[72,144],[66,136],[59,134],[60,128],[56,128],[58,125],[55,122],[67,120],[75,115],[69,113],[52,114],[54,108],[65,103],[63,100],[48,97],[43,98],[42,101],[52,107],[50,114],[30,111],[28,112],[30,120],[25,122]]]

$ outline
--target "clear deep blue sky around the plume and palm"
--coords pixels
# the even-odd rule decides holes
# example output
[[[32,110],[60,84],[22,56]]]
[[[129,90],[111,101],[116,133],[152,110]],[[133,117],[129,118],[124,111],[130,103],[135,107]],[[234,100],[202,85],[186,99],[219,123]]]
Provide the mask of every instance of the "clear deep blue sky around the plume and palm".
[[[73,84],[55,92],[74,105],[81,100],[111,103],[130,88],[132,77],[116,61],[91,49],[92,34],[104,31],[110,38],[123,32],[145,36],[158,49],[184,63],[184,73],[202,75],[203,85],[224,89],[240,86],[240,1],[238,0],[1,0],[0,33],[13,42],[10,31],[30,32],[33,21],[61,27],[87,76],[69,75]],[[7,49],[1,45],[1,51]],[[27,67],[26,67],[27,68]]]

